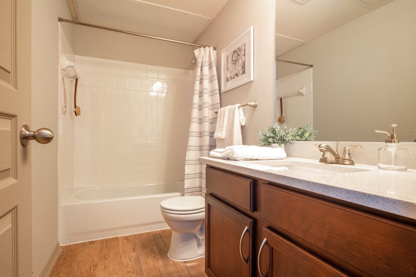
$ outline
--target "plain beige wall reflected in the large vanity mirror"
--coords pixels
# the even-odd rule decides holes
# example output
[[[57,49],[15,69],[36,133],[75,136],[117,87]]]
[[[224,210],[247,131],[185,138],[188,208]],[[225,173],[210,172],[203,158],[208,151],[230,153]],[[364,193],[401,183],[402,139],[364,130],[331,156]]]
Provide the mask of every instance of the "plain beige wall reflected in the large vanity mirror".
[[[396,0],[283,56],[313,64],[313,125],[322,141],[416,136],[416,1]]]

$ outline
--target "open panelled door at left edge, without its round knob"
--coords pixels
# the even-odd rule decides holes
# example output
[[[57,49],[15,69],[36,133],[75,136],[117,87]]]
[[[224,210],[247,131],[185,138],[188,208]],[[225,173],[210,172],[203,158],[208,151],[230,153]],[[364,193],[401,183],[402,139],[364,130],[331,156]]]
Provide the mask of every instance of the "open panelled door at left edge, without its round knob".
[[[0,0],[0,276],[32,275],[30,145],[31,6]],[[41,34],[39,34],[41,35]]]

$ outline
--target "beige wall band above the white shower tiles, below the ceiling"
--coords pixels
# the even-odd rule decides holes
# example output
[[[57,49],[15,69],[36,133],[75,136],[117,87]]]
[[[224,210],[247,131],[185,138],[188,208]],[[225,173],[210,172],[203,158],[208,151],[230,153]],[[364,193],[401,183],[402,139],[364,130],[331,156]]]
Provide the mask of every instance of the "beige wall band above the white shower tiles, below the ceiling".
[[[74,25],[76,55],[130,63],[191,69],[194,47]]]

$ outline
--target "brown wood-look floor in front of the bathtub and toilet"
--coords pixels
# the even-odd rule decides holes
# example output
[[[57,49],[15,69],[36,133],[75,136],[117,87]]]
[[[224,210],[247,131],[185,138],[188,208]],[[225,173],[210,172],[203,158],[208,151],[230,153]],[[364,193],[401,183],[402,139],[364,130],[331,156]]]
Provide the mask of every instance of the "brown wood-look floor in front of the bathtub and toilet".
[[[189,276],[205,274],[205,259],[174,262],[166,255],[171,229],[62,247],[50,276]]]

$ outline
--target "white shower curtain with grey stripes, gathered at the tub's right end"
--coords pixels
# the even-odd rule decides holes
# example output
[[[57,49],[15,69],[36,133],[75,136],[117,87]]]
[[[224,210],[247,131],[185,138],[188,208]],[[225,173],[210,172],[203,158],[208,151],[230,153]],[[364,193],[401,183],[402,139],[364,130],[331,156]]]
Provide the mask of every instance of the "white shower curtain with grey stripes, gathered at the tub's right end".
[[[205,167],[198,157],[209,156],[215,148],[215,111],[220,108],[216,51],[212,47],[194,51],[197,58],[194,96],[185,161],[185,195],[205,193]]]

